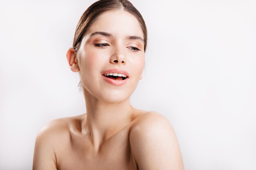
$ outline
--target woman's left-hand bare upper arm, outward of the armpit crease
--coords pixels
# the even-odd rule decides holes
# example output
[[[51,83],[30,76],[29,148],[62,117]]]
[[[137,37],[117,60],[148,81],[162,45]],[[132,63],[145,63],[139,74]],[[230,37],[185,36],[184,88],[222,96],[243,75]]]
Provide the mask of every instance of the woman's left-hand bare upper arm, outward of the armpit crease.
[[[33,170],[57,170],[55,157],[56,120],[46,124],[36,137]]]

